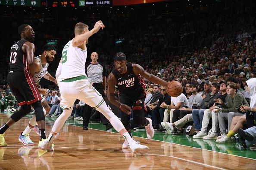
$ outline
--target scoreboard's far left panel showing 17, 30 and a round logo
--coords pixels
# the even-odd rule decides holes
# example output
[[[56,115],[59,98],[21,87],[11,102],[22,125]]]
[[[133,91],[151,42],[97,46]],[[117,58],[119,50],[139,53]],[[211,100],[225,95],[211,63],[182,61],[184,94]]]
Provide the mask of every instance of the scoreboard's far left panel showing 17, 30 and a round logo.
[[[41,0],[0,0],[0,5],[41,6]]]

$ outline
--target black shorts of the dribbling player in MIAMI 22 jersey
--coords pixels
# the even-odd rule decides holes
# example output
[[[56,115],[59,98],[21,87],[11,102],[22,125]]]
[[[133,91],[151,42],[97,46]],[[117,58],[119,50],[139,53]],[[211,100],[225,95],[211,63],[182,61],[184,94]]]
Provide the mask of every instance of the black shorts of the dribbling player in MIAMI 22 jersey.
[[[143,110],[145,109],[145,95],[138,94],[137,96],[128,96],[125,94],[119,93],[119,102],[126,104],[131,107],[133,110]],[[146,110],[146,109],[145,109]]]

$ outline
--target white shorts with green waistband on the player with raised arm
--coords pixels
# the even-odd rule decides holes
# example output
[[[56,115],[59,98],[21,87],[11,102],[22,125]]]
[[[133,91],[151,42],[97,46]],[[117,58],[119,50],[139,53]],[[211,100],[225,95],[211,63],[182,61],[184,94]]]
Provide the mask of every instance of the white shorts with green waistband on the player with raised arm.
[[[76,99],[84,101],[93,109],[97,109],[104,102],[101,94],[89,83],[86,76],[78,76],[58,81],[61,93],[60,107],[64,110],[72,109]]]

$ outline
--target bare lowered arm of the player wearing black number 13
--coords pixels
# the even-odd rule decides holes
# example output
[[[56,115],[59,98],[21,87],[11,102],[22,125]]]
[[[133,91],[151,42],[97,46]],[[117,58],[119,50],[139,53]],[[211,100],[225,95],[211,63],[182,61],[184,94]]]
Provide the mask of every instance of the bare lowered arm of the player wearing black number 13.
[[[27,62],[28,62],[28,69],[32,76],[34,76],[35,73],[35,64],[34,64],[34,51],[35,46],[33,43],[26,42],[22,46],[23,52],[27,54]]]

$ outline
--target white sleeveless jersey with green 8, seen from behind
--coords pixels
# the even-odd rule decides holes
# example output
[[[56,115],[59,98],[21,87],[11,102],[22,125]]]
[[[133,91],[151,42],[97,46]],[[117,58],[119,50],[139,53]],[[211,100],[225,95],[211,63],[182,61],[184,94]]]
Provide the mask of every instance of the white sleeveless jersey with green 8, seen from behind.
[[[87,58],[87,50],[72,46],[72,40],[64,46],[62,50],[61,73],[58,81],[74,78],[78,76],[86,76],[85,62]]]

